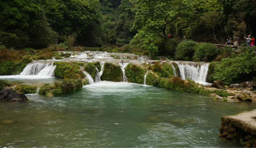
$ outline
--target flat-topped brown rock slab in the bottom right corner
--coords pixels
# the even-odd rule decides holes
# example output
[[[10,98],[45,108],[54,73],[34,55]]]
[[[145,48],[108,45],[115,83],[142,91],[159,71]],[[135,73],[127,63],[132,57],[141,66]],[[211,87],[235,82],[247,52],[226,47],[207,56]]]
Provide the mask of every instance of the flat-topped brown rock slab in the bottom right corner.
[[[247,147],[256,147],[256,109],[232,116],[222,116],[219,137],[240,141]]]

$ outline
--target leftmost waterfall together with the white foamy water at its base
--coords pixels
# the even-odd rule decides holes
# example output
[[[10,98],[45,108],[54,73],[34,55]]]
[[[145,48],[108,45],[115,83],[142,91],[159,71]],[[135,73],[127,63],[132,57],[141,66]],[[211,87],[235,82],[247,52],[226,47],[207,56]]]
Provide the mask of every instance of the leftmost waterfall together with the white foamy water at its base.
[[[28,64],[19,75],[5,75],[0,78],[25,78],[25,79],[45,79],[53,78],[54,70],[56,66],[53,66],[49,61],[35,61]]]

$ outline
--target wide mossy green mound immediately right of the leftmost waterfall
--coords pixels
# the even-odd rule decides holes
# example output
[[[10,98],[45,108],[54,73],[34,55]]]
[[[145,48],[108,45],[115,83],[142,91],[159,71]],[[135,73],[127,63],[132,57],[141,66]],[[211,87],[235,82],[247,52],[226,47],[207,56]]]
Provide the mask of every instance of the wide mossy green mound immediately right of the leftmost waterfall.
[[[80,67],[76,63],[71,62],[54,62],[53,65],[56,65],[54,70],[55,76],[62,79],[81,79],[85,75],[80,70]]]

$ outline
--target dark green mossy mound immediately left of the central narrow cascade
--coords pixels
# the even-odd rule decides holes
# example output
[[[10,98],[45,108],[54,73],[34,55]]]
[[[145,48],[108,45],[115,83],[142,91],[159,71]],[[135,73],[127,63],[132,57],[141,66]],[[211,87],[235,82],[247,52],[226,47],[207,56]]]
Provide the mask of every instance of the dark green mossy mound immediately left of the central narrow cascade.
[[[123,71],[121,69],[121,66],[106,62],[104,64],[101,80],[112,81],[112,82],[122,82]]]

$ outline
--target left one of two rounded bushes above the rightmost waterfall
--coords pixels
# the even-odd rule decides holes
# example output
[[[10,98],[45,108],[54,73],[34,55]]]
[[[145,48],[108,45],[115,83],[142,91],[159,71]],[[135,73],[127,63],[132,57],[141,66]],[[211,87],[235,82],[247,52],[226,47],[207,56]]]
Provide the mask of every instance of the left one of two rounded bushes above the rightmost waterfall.
[[[183,41],[175,49],[175,60],[192,61],[194,56],[194,41]]]

